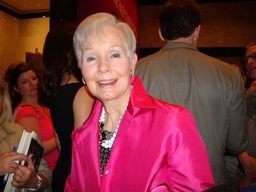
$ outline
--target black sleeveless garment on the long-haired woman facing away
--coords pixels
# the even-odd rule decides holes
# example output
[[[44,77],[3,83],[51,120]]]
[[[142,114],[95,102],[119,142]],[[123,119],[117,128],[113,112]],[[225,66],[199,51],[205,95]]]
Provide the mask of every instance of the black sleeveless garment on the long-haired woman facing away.
[[[60,86],[53,99],[51,111],[52,123],[60,140],[61,152],[52,172],[52,191],[64,191],[65,181],[71,169],[71,134],[74,131],[73,102],[82,83],[70,83]]]

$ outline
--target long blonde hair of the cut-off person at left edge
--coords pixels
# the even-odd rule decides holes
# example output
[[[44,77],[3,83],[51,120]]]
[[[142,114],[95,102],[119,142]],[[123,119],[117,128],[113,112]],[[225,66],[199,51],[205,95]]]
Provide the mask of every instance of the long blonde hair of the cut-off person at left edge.
[[[6,88],[6,84],[0,77],[0,97],[2,97],[3,108],[0,111],[0,124],[3,122],[12,122],[12,107],[10,96]]]

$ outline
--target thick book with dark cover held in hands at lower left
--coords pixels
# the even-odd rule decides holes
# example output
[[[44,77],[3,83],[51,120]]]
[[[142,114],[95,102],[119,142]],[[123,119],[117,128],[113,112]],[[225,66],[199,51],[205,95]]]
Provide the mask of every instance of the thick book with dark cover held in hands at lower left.
[[[27,132],[23,131],[22,136],[20,138],[19,147],[17,148],[17,152],[22,153],[26,156],[29,154],[33,154],[32,161],[35,167],[35,171],[38,171],[38,167],[40,164],[40,161],[42,159],[43,153],[44,153],[44,147],[42,145],[42,142],[38,138],[36,132]],[[27,166],[27,162],[25,161],[15,161],[16,163],[22,164],[24,166]],[[19,191],[26,191],[26,189],[19,189],[12,186],[12,180],[13,180],[14,173],[10,173],[8,180],[6,182],[6,186],[4,188],[4,192],[19,192]]]

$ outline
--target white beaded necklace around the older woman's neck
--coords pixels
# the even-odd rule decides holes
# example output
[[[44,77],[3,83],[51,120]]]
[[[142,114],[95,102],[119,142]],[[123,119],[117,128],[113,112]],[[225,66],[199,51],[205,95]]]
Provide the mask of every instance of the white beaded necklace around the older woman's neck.
[[[100,141],[100,145],[104,148],[111,148],[114,141],[115,141],[115,138],[116,138],[116,134],[117,134],[117,131],[118,131],[118,128],[119,128],[119,125],[120,125],[120,122],[124,116],[124,113],[127,109],[127,106],[128,106],[128,103],[126,104],[125,108],[124,108],[124,111],[122,113],[122,115],[120,116],[120,119],[118,121],[118,124],[116,125],[116,130],[115,132],[113,133],[113,136],[109,139],[109,140],[104,140],[104,141]],[[104,127],[104,124],[102,122],[105,121],[105,108],[102,107],[102,111],[101,111],[101,115],[100,115],[100,120],[99,120],[99,127],[100,127],[100,132],[99,132],[99,140],[102,139],[102,131],[103,131],[103,127]]]

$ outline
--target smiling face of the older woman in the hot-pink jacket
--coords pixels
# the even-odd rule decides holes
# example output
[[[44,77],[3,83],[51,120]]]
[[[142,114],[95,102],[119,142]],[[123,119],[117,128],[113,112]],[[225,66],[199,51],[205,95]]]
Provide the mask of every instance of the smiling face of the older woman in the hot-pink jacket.
[[[112,27],[102,28],[102,33],[90,33],[79,65],[92,94],[102,102],[129,98],[131,70],[137,56],[129,58],[124,36]]]

